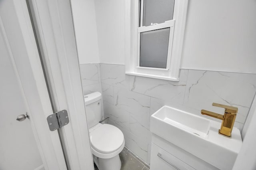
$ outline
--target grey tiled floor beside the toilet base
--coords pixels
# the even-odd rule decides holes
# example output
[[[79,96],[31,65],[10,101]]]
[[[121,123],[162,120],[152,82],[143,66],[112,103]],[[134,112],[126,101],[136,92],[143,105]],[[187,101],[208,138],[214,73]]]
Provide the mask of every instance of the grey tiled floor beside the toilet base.
[[[122,150],[119,156],[122,162],[121,170],[149,170],[144,164],[130,154],[126,148]],[[98,170],[95,164],[94,168],[95,170]]]

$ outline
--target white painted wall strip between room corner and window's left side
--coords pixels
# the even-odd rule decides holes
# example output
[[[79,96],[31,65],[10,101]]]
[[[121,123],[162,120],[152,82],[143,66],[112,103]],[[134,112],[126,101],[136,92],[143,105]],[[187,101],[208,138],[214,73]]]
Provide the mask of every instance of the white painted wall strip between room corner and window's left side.
[[[100,63],[124,64],[124,1],[95,0]]]

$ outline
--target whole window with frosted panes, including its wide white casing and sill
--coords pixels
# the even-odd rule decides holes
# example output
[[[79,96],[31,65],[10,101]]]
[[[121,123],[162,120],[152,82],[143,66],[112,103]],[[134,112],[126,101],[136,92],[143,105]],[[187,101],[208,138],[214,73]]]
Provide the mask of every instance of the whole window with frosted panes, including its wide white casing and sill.
[[[126,74],[179,81],[188,0],[127,1]]]

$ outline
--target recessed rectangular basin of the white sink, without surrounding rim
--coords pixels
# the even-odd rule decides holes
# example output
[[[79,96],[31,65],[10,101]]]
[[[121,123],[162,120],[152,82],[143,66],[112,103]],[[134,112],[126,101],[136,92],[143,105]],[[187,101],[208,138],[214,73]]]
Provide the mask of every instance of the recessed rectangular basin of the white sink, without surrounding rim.
[[[155,119],[168,123],[172,130],[182,129],[184,133],[192,133],[206,138],[210,129],[210,121],[203,117],[164,106],[152,115]]]

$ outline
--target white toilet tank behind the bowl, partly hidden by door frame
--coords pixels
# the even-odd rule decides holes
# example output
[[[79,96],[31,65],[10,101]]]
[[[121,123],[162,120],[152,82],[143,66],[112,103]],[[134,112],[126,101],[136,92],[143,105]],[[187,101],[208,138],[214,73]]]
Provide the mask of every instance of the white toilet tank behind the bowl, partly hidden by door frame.
[[[101,93],[94,92],[84,95],[84,103],[88,127],[91,128],[102,119]]]

